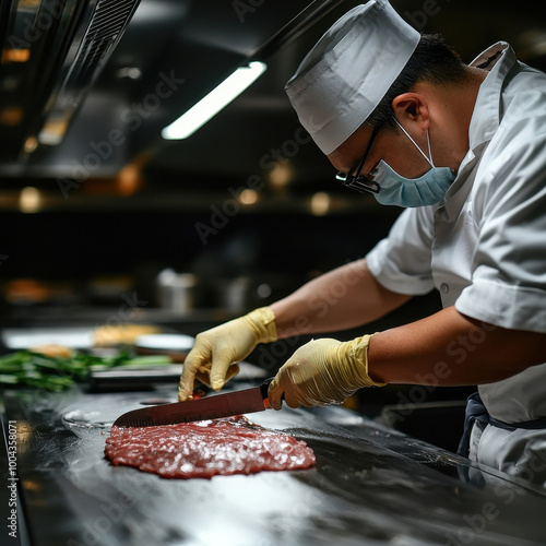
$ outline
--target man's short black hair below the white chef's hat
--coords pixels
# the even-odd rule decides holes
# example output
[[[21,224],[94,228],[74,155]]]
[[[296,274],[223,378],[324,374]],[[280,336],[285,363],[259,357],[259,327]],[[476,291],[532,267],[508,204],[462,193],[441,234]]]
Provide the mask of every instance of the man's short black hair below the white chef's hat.
[[[366,120],[367,124],[397,130],[392,102],[418,82],[435,85],[458,84],[466,79],[459,54],[439,34],[423,34],[406,66]]]

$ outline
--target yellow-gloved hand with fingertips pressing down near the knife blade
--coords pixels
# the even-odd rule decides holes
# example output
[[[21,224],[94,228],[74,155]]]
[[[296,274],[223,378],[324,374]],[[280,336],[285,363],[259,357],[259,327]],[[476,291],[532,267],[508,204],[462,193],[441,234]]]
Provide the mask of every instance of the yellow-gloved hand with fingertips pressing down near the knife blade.
[[[201,332],[183,361],[178,400],[183,402],[191,396],[195,377],[219,391],[239,371],[237,363],[259,343],[276,339],[275,314],[270,307],[254,309],[244,317]]]

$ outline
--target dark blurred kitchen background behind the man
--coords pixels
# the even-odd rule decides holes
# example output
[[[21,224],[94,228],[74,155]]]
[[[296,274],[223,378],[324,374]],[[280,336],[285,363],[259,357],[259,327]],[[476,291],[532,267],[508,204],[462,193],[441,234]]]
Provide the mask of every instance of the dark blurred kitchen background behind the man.
[[[136,295],[193,335],[363,257],[400,210],[336,186],[283,90],[357,3],[1,1],[3,324],[88,320],[90,309],[99,323]],[[465,62],[502,39],[546,68],[541,2],[392,4]],[[251,59],[268,70],[250,88],[190,138],[162,138]],[[176,300],[162,298],[169,278]],[[436,294],[419,297],[366,331],[438,308]]]

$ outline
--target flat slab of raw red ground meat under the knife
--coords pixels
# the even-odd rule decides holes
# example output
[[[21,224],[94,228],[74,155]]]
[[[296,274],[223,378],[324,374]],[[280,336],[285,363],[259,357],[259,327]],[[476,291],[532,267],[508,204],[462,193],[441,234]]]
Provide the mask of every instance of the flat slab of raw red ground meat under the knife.
[[[293,471],[314,465],[314,454],[292,436],[245,416],[157,427],[112,427],[106,456],[169,478]]]

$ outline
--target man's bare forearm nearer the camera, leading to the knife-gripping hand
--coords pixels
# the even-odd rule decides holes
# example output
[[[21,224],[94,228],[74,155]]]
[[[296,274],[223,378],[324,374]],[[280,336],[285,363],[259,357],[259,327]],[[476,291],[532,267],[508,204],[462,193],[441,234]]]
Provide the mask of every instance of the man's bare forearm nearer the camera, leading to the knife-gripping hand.
[[[483,323],[448,307],[372,336],[371,379],[385,383],[472,385],[500,381],[546,361],[546,334]]]

